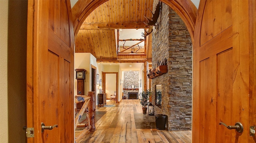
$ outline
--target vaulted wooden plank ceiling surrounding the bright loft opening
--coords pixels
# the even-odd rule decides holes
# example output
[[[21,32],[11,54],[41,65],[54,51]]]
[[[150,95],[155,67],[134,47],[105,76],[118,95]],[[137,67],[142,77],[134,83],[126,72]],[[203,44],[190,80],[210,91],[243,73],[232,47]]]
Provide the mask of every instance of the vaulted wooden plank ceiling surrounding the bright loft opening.
[[[96,8],[80,27],[75,41],[76,53],[91,53],[97,61],[129,63],[152,59],[151,43],[145,53],[118,54],[115,29],[145,29],[144,16],[152,17],[154,0],[109,0]],[[155,7],[155,6],[154,6]],[[154,12],[154,10],[152,10]],[[151,34],[146,42],[152,41]],[[144,47],[143,47],[144,48]]]

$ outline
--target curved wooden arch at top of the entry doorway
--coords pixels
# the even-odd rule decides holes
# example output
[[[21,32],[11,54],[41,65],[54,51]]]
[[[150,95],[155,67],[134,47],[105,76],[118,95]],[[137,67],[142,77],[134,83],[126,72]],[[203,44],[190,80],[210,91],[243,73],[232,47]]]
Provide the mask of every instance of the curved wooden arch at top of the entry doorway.
[[[76,37],[82,23],[98,6],[108,0],[78,0],[72,8],[74,35]],[[184,21],[190,33],[192,43],[194,43],[194,29],[196,24],[196,6],[191,0],[160,0],[170,6]]]

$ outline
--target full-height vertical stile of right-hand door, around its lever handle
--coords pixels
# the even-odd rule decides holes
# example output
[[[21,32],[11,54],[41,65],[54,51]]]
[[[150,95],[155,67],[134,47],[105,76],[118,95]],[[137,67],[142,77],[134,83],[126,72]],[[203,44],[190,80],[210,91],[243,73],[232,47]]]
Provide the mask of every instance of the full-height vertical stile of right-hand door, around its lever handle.
[[[233,118],[232,122],[240,121],[245,132],[242,134],[232,132],[232,141],[249,141],[249,1],[232,1],[233,24]],[[236,18],[233,16],[236,15]],[[238,74],[239,73],[239,74]],[[236,107],[236,108],[234,108]],[[247,132],[246,132],[247,130]]]

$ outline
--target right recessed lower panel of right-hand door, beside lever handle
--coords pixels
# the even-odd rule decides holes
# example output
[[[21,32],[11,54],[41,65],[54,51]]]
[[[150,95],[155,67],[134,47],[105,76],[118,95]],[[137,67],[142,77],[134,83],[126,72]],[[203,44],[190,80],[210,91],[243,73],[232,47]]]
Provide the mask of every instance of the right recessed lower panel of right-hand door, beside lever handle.
[[[227,125],[234,125],[232,122],[232,95],[233,95],[233,64],[232,48],[217,54],[217,120]],[[232,131],[225,129],[223,125],[216,125],[216,142],[231,143]],[[220,132],[221,131],[221,132]],[[225,136],[223,136],[225,135]]]

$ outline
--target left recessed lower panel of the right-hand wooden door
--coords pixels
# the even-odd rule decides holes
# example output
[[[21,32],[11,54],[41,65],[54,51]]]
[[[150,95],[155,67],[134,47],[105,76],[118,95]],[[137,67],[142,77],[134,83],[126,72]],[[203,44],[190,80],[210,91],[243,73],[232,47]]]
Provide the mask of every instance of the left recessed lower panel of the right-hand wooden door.
[[[216,131],[214,128],[210,128],[212,124],[216,125],[216,104],[213,100],[216,99],[214,96],[214,85],[216,80],[214,79],[214,66],[211,66],[216,59],[215,57],[209,57],[200,61],[200,131],[198,132],[201,135],[200,141],[208,142],[208,140],[215,140],[215,137],[212,136],[212,133]],[[207,90],[205,90],[207,89]],[[211,114],[208,113],[211,111]],[[202,118],[202,119],[201,119]],[[214,126],[214,125],[213,125]]]

